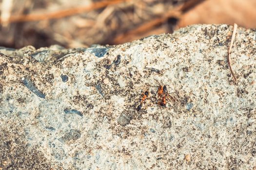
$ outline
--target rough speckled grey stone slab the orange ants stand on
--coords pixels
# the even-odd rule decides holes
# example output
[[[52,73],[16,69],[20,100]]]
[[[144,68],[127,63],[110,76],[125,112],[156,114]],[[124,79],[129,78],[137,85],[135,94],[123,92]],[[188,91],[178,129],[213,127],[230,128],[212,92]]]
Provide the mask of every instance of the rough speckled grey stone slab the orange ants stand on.
[[[232,31],[196,25],[115,47],[0,49],[0,168],[256,168],[256,31],[237,30],[236,84]],[[176,101],[158,106],[157,81]]]

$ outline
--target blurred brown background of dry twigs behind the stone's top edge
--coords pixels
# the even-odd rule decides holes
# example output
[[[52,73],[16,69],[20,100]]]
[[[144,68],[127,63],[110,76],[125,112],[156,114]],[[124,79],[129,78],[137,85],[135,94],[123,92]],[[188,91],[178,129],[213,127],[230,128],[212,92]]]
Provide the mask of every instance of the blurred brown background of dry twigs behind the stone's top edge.
[[[114,45],[198,23],[256,28],[256,0],[1,0],[0,46]]]

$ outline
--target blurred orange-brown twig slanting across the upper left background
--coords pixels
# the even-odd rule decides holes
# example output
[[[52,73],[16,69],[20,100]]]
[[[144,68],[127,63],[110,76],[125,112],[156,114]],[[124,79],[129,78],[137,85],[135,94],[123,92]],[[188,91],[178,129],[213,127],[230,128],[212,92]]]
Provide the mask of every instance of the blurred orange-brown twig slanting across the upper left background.
[[[39,21],[39,20],[46,20],[46,19],[68,17],[68,16],[73,16],[73,15],[81,14],[84,12],[92,11],[95,9],[104,8],[108,5],[118,4],[125,1],[130,1],[130,0],[104,0],[104,1],[92,3],[91,5],[84,6],[84,7],[60,10],[60,11],[48,13],[48,14],[29,14],[29,15],[21,15],[21,16],[11,16],[8,22],[11,23],[11,22]],[[0,19],[0,23],[1,22],[2,20]]]

